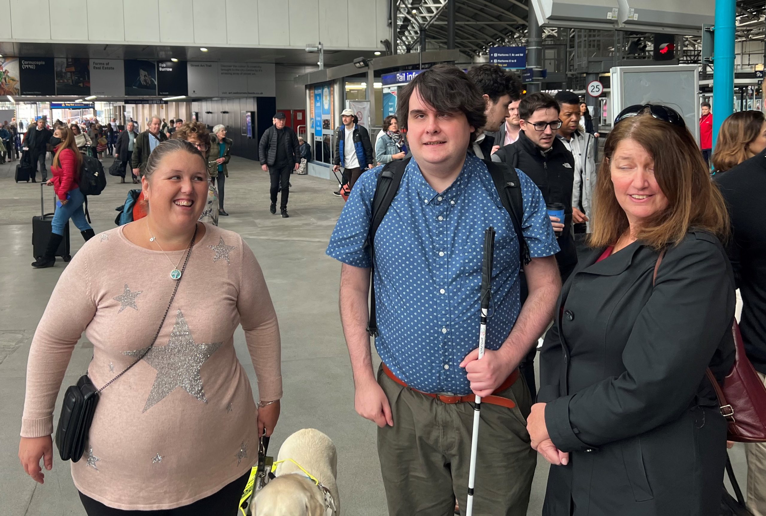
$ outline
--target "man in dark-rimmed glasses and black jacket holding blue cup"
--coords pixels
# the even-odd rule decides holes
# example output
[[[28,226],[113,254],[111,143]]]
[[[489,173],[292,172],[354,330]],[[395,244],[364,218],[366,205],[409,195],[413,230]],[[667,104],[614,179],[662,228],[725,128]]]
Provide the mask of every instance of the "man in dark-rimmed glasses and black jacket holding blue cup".
[[[568,151],[556,132],[561,127],[559,106],[548,93],[532,93],[519,103],[519,139],[506,145],[492,155],[493,162],[508,163],[529,176],[542,191],[545,204],[561,204],[564,220],[550,217],[558,247],[556,253],[561,282],[565,282],[577,265],[577,250],[572,236],[572,188],[575,181],[575,158]],[[525,284],[522,282],[522,301]],[[532,397],[535,397],[535,353],[532,348],[519,364]]]

